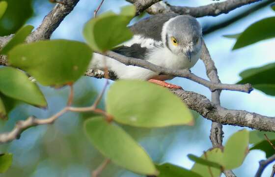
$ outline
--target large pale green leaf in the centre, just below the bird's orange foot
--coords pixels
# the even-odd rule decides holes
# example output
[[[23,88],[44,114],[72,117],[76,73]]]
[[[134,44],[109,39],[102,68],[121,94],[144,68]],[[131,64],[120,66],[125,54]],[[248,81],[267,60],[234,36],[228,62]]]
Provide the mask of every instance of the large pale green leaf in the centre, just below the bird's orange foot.
[[[107,112],[119,123],[138,127],[192,124],[187,106],[168,89],[137,80],[115,82],[107,95]]]

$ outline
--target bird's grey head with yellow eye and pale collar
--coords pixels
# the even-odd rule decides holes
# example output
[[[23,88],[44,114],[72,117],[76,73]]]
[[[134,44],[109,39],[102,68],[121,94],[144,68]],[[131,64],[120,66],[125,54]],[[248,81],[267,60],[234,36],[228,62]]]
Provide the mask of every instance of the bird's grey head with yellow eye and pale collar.
[[[192,16],[179,15],[165,23],[162,40],[173,54],[186,56],[191,61],[192,56],[200,52],[202,30]]]

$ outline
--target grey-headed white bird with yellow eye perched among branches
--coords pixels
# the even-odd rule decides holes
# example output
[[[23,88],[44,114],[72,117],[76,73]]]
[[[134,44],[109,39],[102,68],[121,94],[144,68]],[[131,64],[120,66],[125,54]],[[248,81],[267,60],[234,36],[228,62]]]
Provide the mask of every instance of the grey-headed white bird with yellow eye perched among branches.
[[[174,13],[152,15],[129,27],[132,39],[112,49],[113,52],[144,59],[170,69],[190,69],[200,57],[202,29],[190,15]],[[142,67],[125,65],[115,59],[94,53],[90,69],[114,72],[118,79],[146,80],[169,89],[182,89],[166,83],[173,76],[163,75]]]

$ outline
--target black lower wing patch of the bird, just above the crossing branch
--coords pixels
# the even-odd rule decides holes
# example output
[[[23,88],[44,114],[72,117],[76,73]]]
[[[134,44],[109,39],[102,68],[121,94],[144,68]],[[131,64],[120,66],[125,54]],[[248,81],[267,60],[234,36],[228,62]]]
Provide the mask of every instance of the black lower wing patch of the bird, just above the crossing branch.
[[[126,57],[145,59],[145,55],[146,52],[148,52],[148,49],[145,47],[141,47],[140,44],[133,44],[131,47],[119,46],[114,48],[112,51]]]

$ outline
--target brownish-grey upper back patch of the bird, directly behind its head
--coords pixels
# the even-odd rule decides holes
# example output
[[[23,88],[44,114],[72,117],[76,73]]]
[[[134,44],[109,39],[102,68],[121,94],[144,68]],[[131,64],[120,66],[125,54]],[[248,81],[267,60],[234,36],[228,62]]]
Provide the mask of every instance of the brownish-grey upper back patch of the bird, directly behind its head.
[[[165,13],[152,15],[146,19],[139,21],[130,27],[134,34],[139,34],[144,36],[145,38],[152,38],[156,41],[162,40],[162,28],[165,22],[167,22],[170,18],[177,16],[178,14],[174,13]]]

